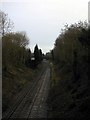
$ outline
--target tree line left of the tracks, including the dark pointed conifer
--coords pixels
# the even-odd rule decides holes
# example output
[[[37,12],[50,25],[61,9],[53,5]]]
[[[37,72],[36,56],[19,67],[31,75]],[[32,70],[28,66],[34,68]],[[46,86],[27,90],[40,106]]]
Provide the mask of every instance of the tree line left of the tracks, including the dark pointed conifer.
[[[12,32],[14,25],[8,18],[8,14],[0,11],[0,17],[3,70],[7,70],[11,65],[26,65],[27,67],[36,68],[43,59],[42,50],[36,45],[34,53],[32,53],[30,48],[27,48],[29,38],[27,37],[26,32]],[[34,57],[33,60],[32,57]]]

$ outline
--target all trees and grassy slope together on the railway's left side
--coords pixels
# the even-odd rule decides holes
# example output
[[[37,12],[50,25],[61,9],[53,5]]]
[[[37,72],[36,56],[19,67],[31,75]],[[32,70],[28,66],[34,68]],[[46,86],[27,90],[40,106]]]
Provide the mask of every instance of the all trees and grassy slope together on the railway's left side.
[[[8,15],[0,11],[0,34],[2,35],[2,109],[5,112],[16,100],[26,84],[33,81],[42,70],[42,50],[35,50],[34,69],[32,53],[27,48],[29,39],[25,32],[12,32]],[[36,48],[35,48],[36,49]],[[37,56],[38,55],[38,56]],[[37,64],[38,63],[38,64]],[[37,66],[37,67],[36,67]]]

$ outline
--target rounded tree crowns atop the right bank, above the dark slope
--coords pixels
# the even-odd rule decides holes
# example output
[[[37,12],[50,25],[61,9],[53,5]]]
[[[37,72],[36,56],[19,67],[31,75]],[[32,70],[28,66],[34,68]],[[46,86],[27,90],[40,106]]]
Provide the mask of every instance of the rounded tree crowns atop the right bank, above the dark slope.
[[[73,78],[78,80],[83,73],[88,76],[90,59],[90,28],[88,23],[79,22],[65,29],[55,41],[52,58],[59,66],[73,72]]]

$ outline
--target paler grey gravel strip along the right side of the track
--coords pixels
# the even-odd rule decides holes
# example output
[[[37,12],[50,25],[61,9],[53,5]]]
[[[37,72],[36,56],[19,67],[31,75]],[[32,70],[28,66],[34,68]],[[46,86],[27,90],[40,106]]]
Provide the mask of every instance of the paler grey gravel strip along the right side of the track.
[[[36,95],[34,96],[33,102],[31,104],[28,118],[47,118],[47,108],[46,108],[46,98],[47,98],[47,91],[49,86],[50,78],[50,69],[47,69],[42,83],[38,88]],[[44,107],[44,108],[43,108]],[[44,110],[44,111],[43,111]]]

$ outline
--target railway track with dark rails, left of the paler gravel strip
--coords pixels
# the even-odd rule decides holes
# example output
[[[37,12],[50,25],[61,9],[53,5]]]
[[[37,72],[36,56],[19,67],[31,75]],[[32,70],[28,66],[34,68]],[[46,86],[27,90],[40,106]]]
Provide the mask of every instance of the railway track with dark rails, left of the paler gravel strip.
[[[40,94],[40,90],[44,87],[46,76],[49,73],[48,65],[45,63],[39,77],[34,83],[28,84],[18,95],[16,103],[4,115],[3,119],[9,120],[14,118],[30,118],[33,117],[32,109]]]

